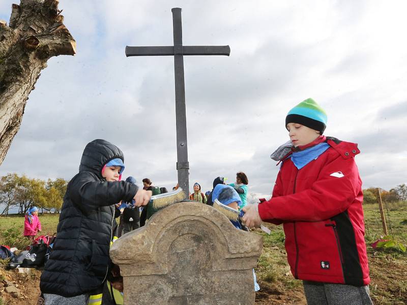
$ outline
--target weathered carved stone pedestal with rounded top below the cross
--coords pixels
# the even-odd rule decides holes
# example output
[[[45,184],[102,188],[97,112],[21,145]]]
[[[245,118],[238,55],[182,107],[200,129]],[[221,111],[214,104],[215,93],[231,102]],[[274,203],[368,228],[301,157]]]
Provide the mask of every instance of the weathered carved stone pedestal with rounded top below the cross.
[[[214,208],[179,202],[124,234],[110,256],[124,277],[126,305],[248,305],[262,247],[260,236]]]

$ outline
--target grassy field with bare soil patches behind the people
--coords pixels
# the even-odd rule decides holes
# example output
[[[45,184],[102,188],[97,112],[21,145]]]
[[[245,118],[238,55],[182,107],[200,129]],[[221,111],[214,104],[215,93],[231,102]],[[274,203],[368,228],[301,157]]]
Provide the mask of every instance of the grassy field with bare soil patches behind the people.
[[[366,205],[364,211],[371,278],[370,294],[373,302],[376,305],[406,304],[407,253],[392,249],[374,250],[370,244],[384,235],[379,208],[377,205]],[[407,204],[389,205],[385,208],[385,214],[388,218],[389,234],[394,240],[404,246],[407,245]],[[41,234],[52,235],[56,232],[58,216],[57,214],[40,215],[43,228]],[[28,241],[21,236],[23,223],[24,218],[21,216],[0,217],[0,244],[23,249],[28,244]],[[258,229],[254,230],[264,239],[263,253],[256,268],[261,287],[261,290],[256,293],[256,304],[306,304],[302,282],[295,280],[289,270],[282,227],[268,226],[272,230],[270,235]],[[33,285],[38,285],[38,278],[39,275]],[[34,288],[34,292],[39,292]],[[8,304],[14,304],[13,300],[8,300]]]

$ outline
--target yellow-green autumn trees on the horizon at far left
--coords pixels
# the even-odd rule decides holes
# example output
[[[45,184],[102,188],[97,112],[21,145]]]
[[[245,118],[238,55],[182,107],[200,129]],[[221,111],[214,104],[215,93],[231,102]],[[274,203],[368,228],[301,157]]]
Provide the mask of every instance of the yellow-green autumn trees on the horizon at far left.
[[[18,208],[19,214],[32,206],[40,213],[59,213],[67,189],[68,181],[62,178],[47,181],[28,178],[25,175],[7,174],[0,178],[0,215],[8,215],[11,209]]]

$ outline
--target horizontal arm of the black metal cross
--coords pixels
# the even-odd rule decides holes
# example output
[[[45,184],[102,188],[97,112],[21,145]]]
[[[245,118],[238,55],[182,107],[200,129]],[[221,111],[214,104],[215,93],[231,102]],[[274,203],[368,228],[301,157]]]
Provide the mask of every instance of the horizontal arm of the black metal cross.
[[[183,46],[182,53],[176,55],[226,55],[230,54],[229,46]],[[166,56],[174,55],[174,47],[129,47],[126,46],[126,56]]]

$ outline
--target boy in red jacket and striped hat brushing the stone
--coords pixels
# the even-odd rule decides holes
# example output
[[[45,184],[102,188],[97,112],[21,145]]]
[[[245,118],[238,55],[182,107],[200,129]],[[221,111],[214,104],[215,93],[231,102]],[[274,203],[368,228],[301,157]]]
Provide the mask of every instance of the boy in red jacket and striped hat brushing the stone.
[[[283,224],[291,272],[303,280],[308,304],[372,304],[364,240],[363,193],[354,143],[323,134],[325,111],[308,98],[285,119],[290,143],[272,198],[243,208],[248,227]]]

